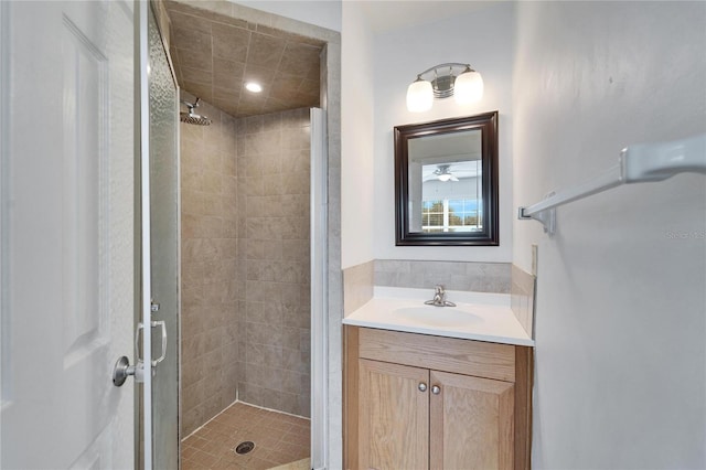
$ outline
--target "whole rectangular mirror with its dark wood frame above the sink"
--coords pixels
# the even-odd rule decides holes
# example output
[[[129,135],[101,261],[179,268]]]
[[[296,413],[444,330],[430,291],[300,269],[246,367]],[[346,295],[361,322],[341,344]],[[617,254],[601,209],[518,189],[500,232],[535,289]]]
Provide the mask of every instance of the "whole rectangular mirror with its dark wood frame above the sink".
[[[395,127],[396,245],[499,245],[498,193],[498,111]]]

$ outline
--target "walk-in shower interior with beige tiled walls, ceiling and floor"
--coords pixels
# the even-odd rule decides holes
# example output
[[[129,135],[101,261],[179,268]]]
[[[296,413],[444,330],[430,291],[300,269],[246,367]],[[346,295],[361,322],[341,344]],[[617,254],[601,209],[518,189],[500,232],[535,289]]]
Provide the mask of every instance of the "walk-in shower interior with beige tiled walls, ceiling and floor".
[[[323,114],[311,108],[325,42],[165,6],[182,104],[182,468],[318,456],[312,332],[327,333],[312,313],[325,299],[328,180],[324,128],[312,125]],[[313,368],[323,376],[325,362]]]

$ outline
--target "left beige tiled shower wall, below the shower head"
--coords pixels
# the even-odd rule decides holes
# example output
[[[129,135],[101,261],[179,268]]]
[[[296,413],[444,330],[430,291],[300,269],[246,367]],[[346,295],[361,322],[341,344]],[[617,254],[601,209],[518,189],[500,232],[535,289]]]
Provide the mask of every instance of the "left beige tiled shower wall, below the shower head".
[[[182,436],[236,399],[238,377],[235,119],[204,102],[196,113],[213,124],[180,124]]]

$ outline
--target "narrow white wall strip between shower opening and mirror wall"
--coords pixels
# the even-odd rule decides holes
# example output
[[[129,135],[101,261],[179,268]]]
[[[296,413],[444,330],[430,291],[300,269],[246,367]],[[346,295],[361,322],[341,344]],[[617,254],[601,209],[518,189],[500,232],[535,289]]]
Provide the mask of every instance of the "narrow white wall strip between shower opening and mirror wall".
[[[341,34],[341,265],[373,259],[373,35],[356,2],[343,3]]]

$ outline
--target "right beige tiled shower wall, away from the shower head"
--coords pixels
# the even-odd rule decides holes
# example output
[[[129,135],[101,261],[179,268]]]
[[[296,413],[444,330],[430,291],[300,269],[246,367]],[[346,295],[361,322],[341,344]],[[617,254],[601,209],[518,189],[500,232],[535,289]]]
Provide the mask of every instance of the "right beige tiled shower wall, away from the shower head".
[[[239,399],[310,413],[309,109],[237,120]]]

